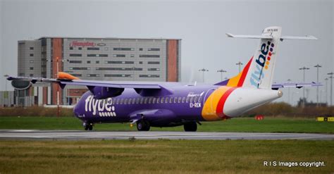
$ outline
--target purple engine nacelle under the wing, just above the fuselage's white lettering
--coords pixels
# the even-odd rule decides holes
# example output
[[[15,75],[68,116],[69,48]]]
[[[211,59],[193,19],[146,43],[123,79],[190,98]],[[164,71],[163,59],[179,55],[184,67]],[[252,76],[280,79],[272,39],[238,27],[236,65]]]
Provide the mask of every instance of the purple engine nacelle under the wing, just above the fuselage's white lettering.
[[[124,88],[114,87],[88,87],[95,99],[106,99],[109,97],[116,97],[122,94]]]

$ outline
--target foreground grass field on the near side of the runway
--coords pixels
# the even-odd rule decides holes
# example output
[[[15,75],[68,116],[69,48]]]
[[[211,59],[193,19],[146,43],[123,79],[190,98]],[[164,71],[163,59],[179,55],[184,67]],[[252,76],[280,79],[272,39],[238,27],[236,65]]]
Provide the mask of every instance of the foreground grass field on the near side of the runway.
[[[264,161],[323,161],[306,168]],[[334,141],[1,141],[0,173],[333,173]]]

